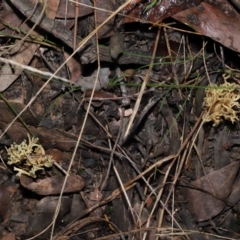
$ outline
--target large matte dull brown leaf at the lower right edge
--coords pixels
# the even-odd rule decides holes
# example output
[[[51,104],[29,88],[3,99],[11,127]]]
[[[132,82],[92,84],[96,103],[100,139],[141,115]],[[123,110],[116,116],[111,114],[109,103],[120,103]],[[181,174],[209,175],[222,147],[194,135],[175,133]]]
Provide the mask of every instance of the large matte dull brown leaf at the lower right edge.
[[[231,192],[233,182],[239,170],[239,162],[234,162],[217,171],[207,174],[191,183],[193,188],[182,190],[188,201],[188,209],[195,220],[205,221],[218,215],[226,203]],[[197,190],[194,189],[194,186]]]

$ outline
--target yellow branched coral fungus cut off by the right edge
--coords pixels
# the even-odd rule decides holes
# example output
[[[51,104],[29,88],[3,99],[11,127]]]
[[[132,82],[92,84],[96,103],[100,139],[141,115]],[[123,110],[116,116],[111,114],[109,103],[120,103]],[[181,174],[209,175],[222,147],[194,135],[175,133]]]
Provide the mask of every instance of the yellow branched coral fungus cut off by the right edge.
[[[216,127],[223,118],[232,123],[238,120],[236,110],[240,108],[240,94],[237,87],[239,86],[235,83],[225,82],[220,86],[211,84],[210,88],[206,89],[203,102],[205,122],[213,121],[213,126]]]

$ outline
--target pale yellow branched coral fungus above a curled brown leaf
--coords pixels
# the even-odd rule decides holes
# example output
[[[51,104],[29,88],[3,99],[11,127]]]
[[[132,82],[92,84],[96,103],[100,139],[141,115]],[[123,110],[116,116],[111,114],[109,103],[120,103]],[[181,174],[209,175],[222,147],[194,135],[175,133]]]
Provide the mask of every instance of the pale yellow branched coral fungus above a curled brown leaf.
[[[54,163],[52,156],[46,155],[42,145],[38,143],[38,138],[32,139],[28,135],[29,143],[24,140],[21,144],[13,143],[7,148],[8,164],[15,165],[13,170],[17,171],[17,176],[21,174],[36,177],[36,171],[44,167],[51,167]],[[16,167],[17,166],[17,167]]]

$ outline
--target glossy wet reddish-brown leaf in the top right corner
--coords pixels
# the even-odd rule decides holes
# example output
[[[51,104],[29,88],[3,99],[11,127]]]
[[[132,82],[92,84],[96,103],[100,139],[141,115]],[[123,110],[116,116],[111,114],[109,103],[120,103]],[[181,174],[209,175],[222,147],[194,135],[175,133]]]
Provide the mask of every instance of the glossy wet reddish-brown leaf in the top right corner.
[[[172,17],[225,47],[240,52],[239,13],[226,0],[213,4],[202,2]]]

